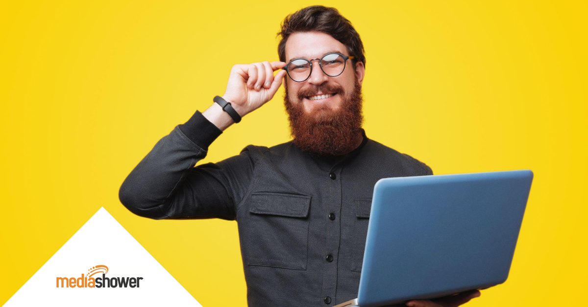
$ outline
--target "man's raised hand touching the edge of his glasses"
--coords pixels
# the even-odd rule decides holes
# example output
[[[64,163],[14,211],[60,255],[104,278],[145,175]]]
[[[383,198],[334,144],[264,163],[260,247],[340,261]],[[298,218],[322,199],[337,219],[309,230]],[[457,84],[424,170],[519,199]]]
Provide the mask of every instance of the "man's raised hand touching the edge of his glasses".
[[[284,66],[286,63],[279,61],[234,65],[223,99],[230,102],[240,116],[245,116],[271,100],[278,92],[286,71],[280,70],[276,76],[273,72]]]

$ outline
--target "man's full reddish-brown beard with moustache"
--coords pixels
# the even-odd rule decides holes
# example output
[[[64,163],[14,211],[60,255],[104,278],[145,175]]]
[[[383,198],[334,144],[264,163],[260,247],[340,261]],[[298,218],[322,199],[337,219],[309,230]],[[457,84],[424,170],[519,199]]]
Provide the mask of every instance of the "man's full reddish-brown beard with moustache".
[[[328,106],[314,107],[310,114],[306,113],[303,99],[315,93],[337,93],[342,99],[338,110]],[[300,150],[319,156],[339,156],[357,146],[362,135],[362,87],[355,80],[352,92],[345,93],[340,86],[327,83],[308,90],[300,90],[298,101],[293,102],[285,87],[284,104],[290,122],[290,136]]]

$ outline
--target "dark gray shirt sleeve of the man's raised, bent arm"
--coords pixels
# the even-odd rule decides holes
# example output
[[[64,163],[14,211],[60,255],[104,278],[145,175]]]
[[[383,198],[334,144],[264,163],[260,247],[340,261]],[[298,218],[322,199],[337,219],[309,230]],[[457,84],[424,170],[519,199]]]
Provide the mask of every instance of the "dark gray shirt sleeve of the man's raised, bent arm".
[[[222,133],[199,111],[159,140],[123,181],[119,199],[142,217],[235,220],[245,197],[253,160],[245,148],[218,163],[196,166]]]

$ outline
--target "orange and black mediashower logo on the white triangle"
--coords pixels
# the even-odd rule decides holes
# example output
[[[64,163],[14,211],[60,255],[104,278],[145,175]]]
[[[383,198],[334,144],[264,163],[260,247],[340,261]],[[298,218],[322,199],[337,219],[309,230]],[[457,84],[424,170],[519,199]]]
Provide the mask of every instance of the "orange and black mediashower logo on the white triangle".
[[[94,278],[92,276],[101,274],[102,277]],[[56,287],[59,288],[139,288],[142,277],[106,277],[108,266],[96,265],[88,269],[88,273],[83,273],[79,278],[58,277]]]

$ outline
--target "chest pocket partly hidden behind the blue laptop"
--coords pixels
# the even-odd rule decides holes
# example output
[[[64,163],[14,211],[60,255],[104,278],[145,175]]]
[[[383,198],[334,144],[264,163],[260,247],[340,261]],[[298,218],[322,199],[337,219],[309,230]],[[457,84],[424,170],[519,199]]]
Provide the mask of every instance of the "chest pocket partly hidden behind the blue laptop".
[[[355,224],[351,237],[351,271],[361,272],[363,264],[363,251],[368,237],[369,213],[372,209],[372,198],[359,198],[353,200],[355,205]]]

